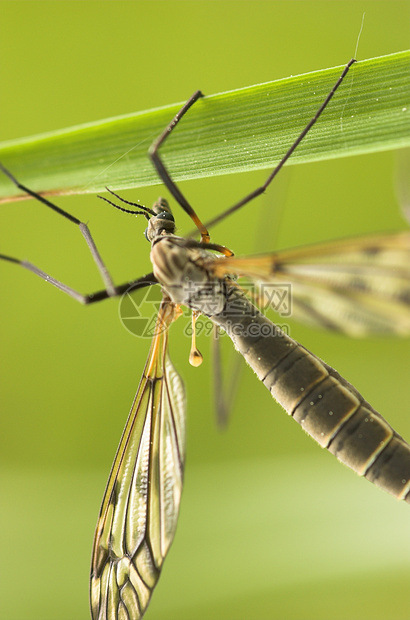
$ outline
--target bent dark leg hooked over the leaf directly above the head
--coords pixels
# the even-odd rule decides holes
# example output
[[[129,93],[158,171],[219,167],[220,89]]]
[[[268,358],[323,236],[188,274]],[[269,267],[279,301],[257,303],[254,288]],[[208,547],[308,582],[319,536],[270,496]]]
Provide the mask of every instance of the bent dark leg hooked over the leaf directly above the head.
[[[177,187],[175,182],[171,179],[169,172],[166,169],[158,152],[161,144],[165,142],[165,140],[167,139],[171,131],[176,127],[176,125],[179,123],[179,121],[184,116],[184,114],[195,103],[195,101],[199,99],[199,97],[203,97],[203,94],[201,93],[200,90],[197,90],[192,95],[192,97],[188,99],[186,104],[179,110],[179,112],[174,116],[174,118],[169,123],[169,125],[167,125],[167,127],[164,129],[162,134],[152,143],[148,152],[151,157],[151,161],[154,164],[158,172],[158,175],[160,179],[162,179],[165,187],[169,189],[169,191],[171,192],[175,200],[181,205],[184,211],[188,213],[188,215],[191,217],[191,219],[195,223],[195,226],[198,228],[199,232],[201,233],[202,242],[207,243],[209,241],[209,233],[206,227],[203,225],[198,215],[195,213],[194,209],[191,207],[191,205],[189,204],[185,196],[182,194],[180,189]]]

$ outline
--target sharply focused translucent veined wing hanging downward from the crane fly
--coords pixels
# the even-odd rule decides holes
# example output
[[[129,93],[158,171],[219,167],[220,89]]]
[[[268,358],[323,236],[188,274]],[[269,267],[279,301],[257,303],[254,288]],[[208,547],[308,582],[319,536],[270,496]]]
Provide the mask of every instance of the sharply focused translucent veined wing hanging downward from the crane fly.
[[[144,614],[174,538],[185,459],[185,394],[167,357],[172,304],[157,330],[113,463],[91,566],[93,620]]]

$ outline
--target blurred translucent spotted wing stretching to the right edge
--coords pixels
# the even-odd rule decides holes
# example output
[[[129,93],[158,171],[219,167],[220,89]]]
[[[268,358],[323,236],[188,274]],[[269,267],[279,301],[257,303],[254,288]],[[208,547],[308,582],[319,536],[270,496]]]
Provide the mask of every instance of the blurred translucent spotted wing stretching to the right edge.
[[[265,305],[350,336],[410,333],[410,233],[358,237],[246,258],[215,260],[216,275],[252,279]],[[275,295],[274,288],[280,291]]]

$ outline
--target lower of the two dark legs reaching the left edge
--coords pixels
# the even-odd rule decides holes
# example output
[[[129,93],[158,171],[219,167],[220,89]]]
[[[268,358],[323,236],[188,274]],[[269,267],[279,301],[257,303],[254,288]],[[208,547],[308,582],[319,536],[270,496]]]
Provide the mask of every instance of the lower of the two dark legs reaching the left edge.
[[[69,295],[70,297],[72,297],[73,299],[75,299],[76,301],[84,305],[93,304],[93,303],[96,303],[97,301],[103,301],[104,299],[109,299],[110,297],[120,297],[126,291],[128,291],[129,288],[139,289],[139,288],[144,288],[146,286],[151,286],[152,284],[158,283],[154,274],[148,273],[147,275],[142,276],[141,278],[138,278],[137,280],[132,280],[131,282],[125,282],[124,284],[121,284],[120,286],[116,286],[114,289],[113,295],[106,289],[103,289],[102,291],[96,291],[95,293],[90,293],[89,295],[83,295],[82,293],[79,293],[73,288],[70,288],[66,284],[63,284],[63,282],[60,282],[60,280],[56,280],[52,276],[49,276],[47,273],[45,273],[44,271],[42,271],[41,269],[39,269],[32,263],[29,263],[28,261],[19,260],[18,258],[13,258],[12,256],[7,256],[5,254],[0,254],[0,260],[6,260],[10,263],[20,265],[20,267],[23,267],[24,269],[28,269],[28,271],[31,271],[36,276],[39,276],[45,282],[49,282],[50,284],[58,288],[60,291],[63,291],[63,293],[66,293],[67,295]]]

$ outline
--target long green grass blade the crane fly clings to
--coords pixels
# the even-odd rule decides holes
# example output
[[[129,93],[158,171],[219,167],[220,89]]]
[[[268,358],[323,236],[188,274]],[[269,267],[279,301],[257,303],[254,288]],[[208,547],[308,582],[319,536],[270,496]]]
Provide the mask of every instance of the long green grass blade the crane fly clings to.
[[[353,65],[289,163],[409,146],[409,69],[409,51]],[[273,168],[341,71],[342,67],[324,69],[200,99],[162,148],[173,179]],[[44,193],[158,184],[147,151],[180,106],[4,142],[0,161],[22,183]],[[10,200],[19,195],[1,175],[0,197]]]

